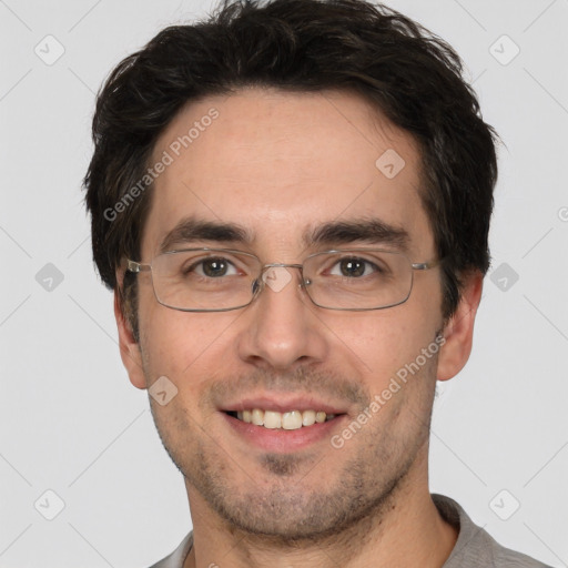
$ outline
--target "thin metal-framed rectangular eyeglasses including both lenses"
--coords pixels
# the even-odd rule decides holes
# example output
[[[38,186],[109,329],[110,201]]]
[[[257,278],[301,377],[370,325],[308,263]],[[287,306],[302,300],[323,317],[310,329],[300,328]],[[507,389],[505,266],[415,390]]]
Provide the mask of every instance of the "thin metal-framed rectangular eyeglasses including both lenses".
[[[303,264],[263,264],[254,254],[230,248],[185,248],[156,256],[150,264],[129,260],[126,270],[150,271],[158,302],[182,312],[227,312],[250,305],[267,284],[285,287],[300,268],[310,300],[326,310],[366,311],[406,302],[414,271],[440,261],[412,263],[399,252],[349,248],[311,254]]]

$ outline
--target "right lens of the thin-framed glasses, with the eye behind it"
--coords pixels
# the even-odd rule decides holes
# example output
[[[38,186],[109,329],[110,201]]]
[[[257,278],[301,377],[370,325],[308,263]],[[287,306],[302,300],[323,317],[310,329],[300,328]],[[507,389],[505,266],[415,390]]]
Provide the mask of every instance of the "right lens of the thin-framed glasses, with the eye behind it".
[[[321,307],[378,310],[407,300],[413,274],[404,254],[355,250],[310,256],[304,278],[310,297]]]

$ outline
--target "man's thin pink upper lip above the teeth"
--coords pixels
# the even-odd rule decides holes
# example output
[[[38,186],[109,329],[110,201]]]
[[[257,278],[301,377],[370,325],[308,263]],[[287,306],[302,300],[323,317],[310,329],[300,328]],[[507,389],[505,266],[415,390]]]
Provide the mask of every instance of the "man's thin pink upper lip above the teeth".
[[[322,410],[326,414],[345,414],[347,410],[338,405],[325,403],[313,395],[298,395],[297,393],[272,393],[263,396],[246,396],[236,402],[224,404],[221,410],[239,412],[260,408],[262,410],[273,410],[286,413],[291,410]]]

